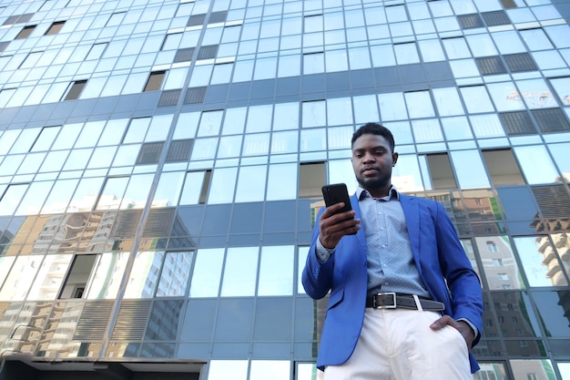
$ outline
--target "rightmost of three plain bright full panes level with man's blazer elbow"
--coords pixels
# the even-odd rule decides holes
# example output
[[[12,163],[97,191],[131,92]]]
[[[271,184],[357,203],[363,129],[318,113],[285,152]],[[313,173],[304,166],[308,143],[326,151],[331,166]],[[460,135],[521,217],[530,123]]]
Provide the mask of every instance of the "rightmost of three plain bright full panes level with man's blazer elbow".
[[[291,295],[293,263],[292,245],[262,247],[258,295]]]

